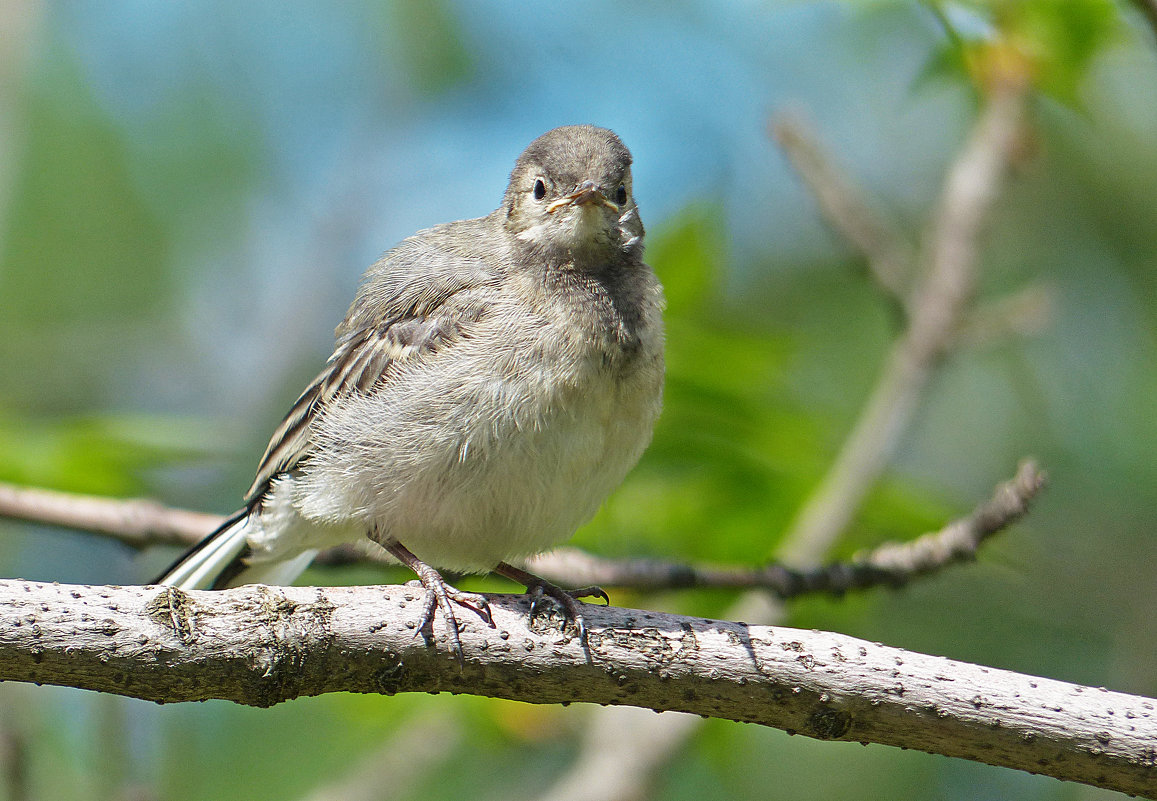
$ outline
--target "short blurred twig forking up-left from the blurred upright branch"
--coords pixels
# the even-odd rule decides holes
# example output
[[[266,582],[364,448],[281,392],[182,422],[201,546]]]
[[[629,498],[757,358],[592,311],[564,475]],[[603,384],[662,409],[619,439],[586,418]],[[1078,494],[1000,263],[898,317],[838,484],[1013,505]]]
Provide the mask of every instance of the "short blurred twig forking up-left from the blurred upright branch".
[[[771,132],[808,184],[827,221],[860,251],[880,288],[906,307],[906,284],[914,259],[904,235],[872,211],[798,115],[776,116]]]

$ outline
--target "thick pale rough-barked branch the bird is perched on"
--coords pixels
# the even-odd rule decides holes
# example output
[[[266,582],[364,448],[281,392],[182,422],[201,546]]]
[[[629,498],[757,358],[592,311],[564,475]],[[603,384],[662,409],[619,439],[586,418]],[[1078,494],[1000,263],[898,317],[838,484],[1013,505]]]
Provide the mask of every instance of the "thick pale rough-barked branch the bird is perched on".
[[[0,580],[0,679],[270,706],[324,692],[466,692],[679,710],[1157,798],[1154,701],[827,632],[587,607],[589,651],[525,596],[462,623],[465,666],[414,637],[422,590],[182,593]]]

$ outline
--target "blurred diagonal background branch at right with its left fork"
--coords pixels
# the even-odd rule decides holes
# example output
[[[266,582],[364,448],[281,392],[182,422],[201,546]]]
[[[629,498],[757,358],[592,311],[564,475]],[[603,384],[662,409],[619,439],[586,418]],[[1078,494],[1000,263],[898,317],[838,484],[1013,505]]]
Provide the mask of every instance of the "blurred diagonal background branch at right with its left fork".
[[[1020,75],[1000,78],[949,168],[916,257],[915,287],[908,297],[900,299],[907,313],[906,328],[893,343],[834,462],[780,543],[778,556],[788,565],[825,561],[891,461],[929,379],[950,350],[963,344],[958,335],[971,314],[982,223],[1017,152],[1029,90]],[[890,287],[898,285],[892,272],[894,259],[901,258],[897,255],[897,238],[886,233],[880,218],[863,211],[867,205],[854,192],[852,181],[839,175],[818,146],[808,144],[802,127],[789,127],[786,137],[782,130],[778,133],[828,221],[868,258],[877,281],[892,292]],[[847,194],[842,194],[845,191]],[[773,623],[782,619],[782,608],[769,602],[766,594],[749,593],[728,610],[728,616]],[[639,777],[654,776],[700,725],[688,715],[655,718],[629,708],[599,710],[595,718],[592,727],[621,733],[622,747],[600,759],[594,740],[588,737],[572,771],[541,796],[544,801],[595,780],[592,769],[617,778],[611,780],[614,787],[607,787],[609,801],[632,801],[643,786]],[[662,748],[655,743],[662,743]],[[582,770],[587,771],[584,776],[578,773]]]

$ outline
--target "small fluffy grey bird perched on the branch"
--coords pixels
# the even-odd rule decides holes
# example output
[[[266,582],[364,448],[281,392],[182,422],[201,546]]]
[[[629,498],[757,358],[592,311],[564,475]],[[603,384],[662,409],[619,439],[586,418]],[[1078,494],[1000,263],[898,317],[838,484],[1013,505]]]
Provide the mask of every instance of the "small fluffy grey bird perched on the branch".
[[[568,125],[515,161],[501,205],[437,225],[363,274],[333,354],[277,427],[244,506],[154,583],[292,582],[364,537],[425,589],[462,661],[440,571],[494,572],[545,597],[585,642],[577,598],[515,566],[567,541],[651,440],[664,377],[663,289],[643,262],[632,155]],[[415,632],[417,633],[417,632]]]

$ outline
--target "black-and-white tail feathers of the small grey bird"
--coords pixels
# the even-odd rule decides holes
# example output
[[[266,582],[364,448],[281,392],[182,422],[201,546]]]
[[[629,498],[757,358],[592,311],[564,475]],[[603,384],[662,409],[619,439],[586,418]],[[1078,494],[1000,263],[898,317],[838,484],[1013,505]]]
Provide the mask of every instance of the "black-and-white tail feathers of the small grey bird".
[[[287,585],[317,556],[316,550],[289,559],[250,564],[248,509],[237,512],[205,537],[152,583],[178,589],[223,589],[239,585]]]

